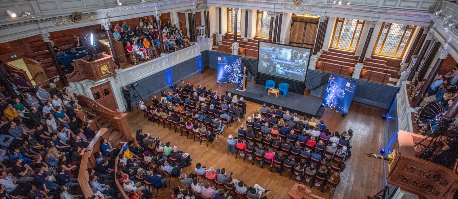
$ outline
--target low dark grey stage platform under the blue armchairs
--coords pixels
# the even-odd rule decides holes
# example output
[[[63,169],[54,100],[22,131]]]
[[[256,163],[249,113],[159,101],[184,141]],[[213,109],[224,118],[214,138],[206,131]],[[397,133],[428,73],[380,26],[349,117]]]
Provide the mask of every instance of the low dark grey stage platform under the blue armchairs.
[[[289,110],[291,115],[293,115],[293,113],[297,113],[299,115],[305,115],[308,118],[321,118],[324,112],[322,99],[300,95],[294,92],[288,92],[286,96],[279,94],[277,99],[275,99],[275,94],[271,94],[267,97],[267,92],[264,92],[265,86],[251,82],[246,82],[246,90],[243,92],[237,91],[236,89],[237,84],[234,84],[234,86],[230,87],[229,90],[226,91],[226,94],[230,92],[233,96],[237,95],[239,98],[243,97],[246,101],[258,104],[266,103],[267,107],[273,105],[276,109],[278,109],[279,106],[282,106],[283,110]]]

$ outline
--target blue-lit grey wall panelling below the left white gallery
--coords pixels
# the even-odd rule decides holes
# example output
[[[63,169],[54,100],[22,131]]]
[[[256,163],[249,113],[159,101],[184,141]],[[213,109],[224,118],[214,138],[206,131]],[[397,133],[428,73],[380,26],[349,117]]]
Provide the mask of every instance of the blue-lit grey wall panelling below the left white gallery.
[[[151,96],[158,94],[160,91],[168,88],[169,86],[180,82],[180,80],[188,79],[191,76],[200,73],[201,59],[201,56],[194,57],[178,65],[171,66],[166,70],[134,82],[135,84],[138,84],[136,87],[138,94],[143,100],[151,102]],[[202,65],[202,68],[203,67],[204,66]],[[137,102],[142,99],[137,97]]]

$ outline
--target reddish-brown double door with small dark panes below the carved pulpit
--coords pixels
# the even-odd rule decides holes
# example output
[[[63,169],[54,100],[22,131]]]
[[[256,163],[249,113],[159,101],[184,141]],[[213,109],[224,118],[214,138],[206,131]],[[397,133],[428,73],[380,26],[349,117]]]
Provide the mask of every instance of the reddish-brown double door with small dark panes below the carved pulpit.
[[[110,110],[118,109],[109,81],[91,88],[94,100]]]

